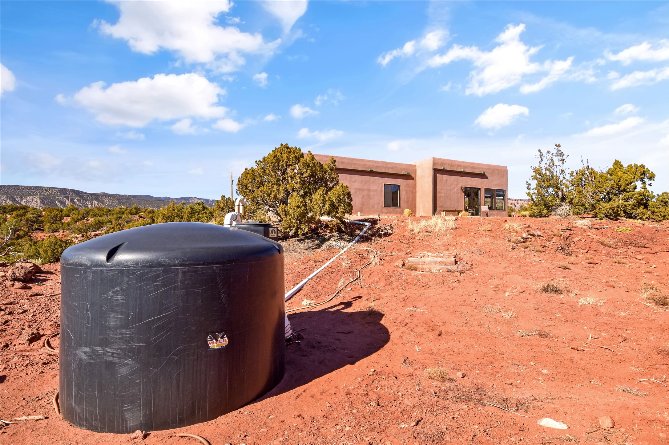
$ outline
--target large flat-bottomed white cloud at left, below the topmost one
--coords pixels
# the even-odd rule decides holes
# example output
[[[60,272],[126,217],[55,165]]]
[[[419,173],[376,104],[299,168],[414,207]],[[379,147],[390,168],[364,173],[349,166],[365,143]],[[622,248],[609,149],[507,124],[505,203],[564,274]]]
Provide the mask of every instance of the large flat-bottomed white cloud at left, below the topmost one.
[[[143,127],[153,120],[211,119],[227,112],[217,105],[225,90],[196,73],[156,74],[153,79],[104,86],[104,82],[90,84],[74,94],[72,101],[108,125]]]

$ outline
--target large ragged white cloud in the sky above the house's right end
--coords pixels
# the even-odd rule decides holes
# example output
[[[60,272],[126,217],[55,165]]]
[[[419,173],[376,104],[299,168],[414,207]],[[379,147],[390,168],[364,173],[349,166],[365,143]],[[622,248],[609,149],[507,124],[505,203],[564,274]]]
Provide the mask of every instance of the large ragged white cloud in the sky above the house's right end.
[[[522,82],[522,77],[541,71],[548,71],[548,76],[537,84],[523,86],[521,92],[539,91],[555,82],[571,66],[573,58],[564,61],[547,60],[543,64],[530,61],[540,46],[529,47],[520,41],[520,33],[525,25],[507,25],[495,41],[500,43],[490,51],[481,51],[476,46],[453,45],[445,54],[435,55],[427,62],[432,67],[447,65],[456,60],[469,60],[474,67],[470,72],[470,83],[466,94],[497,93]],[[522,91],[524,90],[524,91]]]

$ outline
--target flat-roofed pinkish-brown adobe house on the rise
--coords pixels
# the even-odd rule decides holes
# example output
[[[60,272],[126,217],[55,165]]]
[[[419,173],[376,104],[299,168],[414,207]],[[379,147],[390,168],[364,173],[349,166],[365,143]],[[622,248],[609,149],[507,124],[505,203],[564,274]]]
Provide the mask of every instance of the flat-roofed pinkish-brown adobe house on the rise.
[[[330,156],[314,154],[319,162]],[[339,180],[353,196],[353,212],[385,216],[409,208],[419,216],[506,216],[506,166],[442,158],[410,164],[334,156]],[[482,212],[488,206],[488,212]],[[485,208],[485,207],[484,207]]]

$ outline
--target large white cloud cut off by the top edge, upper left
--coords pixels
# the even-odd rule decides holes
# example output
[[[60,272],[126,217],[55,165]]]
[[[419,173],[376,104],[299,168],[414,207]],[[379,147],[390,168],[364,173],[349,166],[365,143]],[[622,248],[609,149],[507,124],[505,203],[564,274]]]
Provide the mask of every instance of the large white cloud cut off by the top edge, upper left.
[[[228,72],[246,63],[244,53],[270,55],[281,39],[265,42],[260,33],[244,33],[236,27],[216,25],[231,1],[118,1],[118,22],[100,21],[100,31],[128,41],[133,51],[153,54],[175,51],[185,61],[207,63]]]

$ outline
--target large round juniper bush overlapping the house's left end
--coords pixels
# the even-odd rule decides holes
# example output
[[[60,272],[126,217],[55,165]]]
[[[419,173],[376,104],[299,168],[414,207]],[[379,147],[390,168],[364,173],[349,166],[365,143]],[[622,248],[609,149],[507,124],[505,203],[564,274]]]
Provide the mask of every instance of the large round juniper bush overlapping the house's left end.
[[[308,235],[320,216],[334,218],[337,227],[353,212],[351,191],[339,182],[336,167],[334,158],[321,164],[311,152],[281,144],[242,172],[237,192],[250,217],[276,219],[288,235]]]

